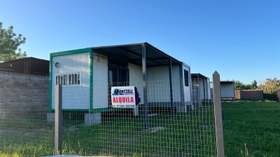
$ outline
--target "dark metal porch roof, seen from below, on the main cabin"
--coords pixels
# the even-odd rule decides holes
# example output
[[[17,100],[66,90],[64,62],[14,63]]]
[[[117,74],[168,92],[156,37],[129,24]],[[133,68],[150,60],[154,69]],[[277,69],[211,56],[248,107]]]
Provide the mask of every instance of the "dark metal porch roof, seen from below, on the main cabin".
[[[142,66],[142,45],[146,47],[147,67],[168,66],[169,59],[172,60],[172,65],[183,64],[183,62],[174,59],[149,43],[134,43],[128,45],[111,45],[91,48],[92,52],[102,54],[106,57]]]

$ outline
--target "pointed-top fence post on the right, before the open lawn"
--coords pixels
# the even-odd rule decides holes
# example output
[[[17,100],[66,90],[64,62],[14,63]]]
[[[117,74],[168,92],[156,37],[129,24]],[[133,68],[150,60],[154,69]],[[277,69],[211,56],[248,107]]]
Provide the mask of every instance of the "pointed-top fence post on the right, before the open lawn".
[[[213,74],[213,94],[214,94],[214,113],[216,126],[216,146],[217,156],[225,156],[225,147],[223,144],[223,121],[222,121],[222,103],[221,103],[221,82],[220,74],[215,71]]]

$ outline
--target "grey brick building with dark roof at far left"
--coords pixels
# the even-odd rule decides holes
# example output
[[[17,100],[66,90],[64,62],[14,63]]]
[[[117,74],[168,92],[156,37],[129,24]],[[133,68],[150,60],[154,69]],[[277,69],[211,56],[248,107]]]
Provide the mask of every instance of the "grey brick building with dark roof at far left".
[[[0,63],[1,117],[48,111],[49,61],[26,57]]]

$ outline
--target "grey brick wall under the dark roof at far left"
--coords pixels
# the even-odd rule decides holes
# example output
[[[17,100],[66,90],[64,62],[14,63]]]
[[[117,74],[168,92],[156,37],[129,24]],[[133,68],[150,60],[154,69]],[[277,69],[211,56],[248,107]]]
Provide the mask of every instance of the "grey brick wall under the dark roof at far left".
[[[48,77],[0,72],[0,118],[48,112]]]

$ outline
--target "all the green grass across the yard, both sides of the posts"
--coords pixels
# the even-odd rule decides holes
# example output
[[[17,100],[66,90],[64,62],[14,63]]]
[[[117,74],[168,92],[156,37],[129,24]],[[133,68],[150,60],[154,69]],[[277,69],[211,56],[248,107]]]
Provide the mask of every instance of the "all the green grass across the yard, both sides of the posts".
[[[102,124],[84,126],[83,113],[64,113],[62,154],[83,156],[215,156],[216,138],[211,104],[171,117],[167,108],[152,109],[149,130],[144,117],[108,112]],[[151,113],[152,113],[151,112]],[[280,103],[223,102],[225,155],[280,156]],[[0,156],[53,155],[54,124],[45,114],[1,119]],[[153,128],[164,127],[153,133]]]

